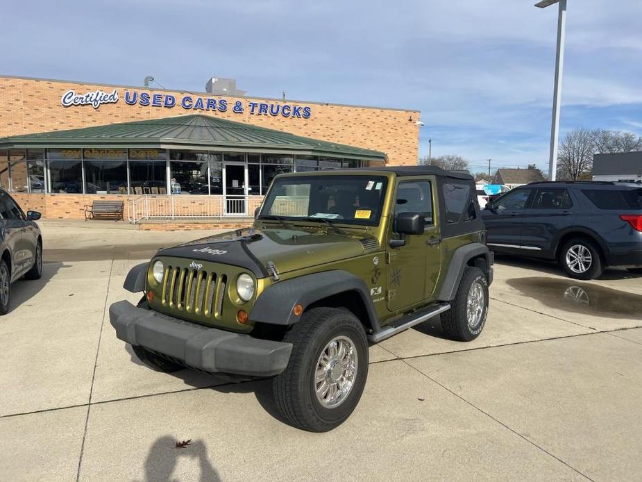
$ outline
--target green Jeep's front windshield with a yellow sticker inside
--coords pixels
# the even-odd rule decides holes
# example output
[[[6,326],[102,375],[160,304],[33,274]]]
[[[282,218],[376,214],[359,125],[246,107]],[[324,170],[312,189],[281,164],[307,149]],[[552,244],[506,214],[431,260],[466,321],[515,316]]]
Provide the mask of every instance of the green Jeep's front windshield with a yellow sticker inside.
[[[296,176],[273,181],[258,219],[377,226],[385,176]]]

